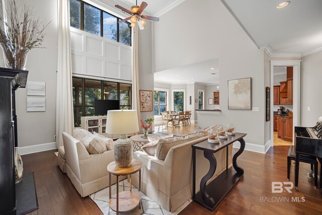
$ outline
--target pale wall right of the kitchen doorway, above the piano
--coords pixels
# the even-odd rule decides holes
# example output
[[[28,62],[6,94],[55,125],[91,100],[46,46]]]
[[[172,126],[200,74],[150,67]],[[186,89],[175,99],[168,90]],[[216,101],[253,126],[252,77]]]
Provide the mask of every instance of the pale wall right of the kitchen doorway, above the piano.
[[[322,51],[301,58],[301,126],[304,127],[314,126],[322,116],[321,59]]]

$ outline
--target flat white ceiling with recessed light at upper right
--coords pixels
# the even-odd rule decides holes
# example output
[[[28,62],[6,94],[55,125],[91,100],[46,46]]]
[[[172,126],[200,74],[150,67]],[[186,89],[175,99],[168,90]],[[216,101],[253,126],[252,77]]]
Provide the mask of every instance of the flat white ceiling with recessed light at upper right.
[[[322,1],[221,0],[239,20],[259,47],[268,45],[273,53],[305,55],[322,50]]]

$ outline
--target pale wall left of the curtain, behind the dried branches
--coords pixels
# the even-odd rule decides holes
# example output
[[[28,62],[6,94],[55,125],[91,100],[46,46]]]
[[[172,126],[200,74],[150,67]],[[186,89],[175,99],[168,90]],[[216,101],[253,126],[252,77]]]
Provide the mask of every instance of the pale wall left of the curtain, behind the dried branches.
[[[17,4],[25,1],[17,0]],[[43,45],[32,49],[27,57],[28,81],[46,82],[46,111],[27,112],[27,91],[16,91],[18,146],[26,147],[55,142],[56,133],[56,70],[57,70],[57,1],[28,0],[28,5],[40,17],[46,28]],[[50,10],[44,10],[50,9]],[[0,66],[4,66],[2,51]]]

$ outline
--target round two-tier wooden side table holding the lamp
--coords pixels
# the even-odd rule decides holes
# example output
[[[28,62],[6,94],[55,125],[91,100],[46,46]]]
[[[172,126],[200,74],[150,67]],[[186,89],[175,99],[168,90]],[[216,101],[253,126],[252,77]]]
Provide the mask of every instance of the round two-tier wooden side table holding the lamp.
[[[139,193],[132,191],[132,180],[131,175],[139,172],[139,192],[141,191],[141,168],[142,163],[133,159],[132,163],[128,167],[117,167],[115,161],[111,162],[107,166],[107,171],[109,171],[110,176],[110,195],[109,195],[109,205],[110,208],[116,211],[116,214],[119,212],[128,212],[133,210],[135,207],[139,206],[141,208],[141,198]],[[116,176],[116,194],[112,196],[112,185],[111,185],[111,174]],[[119,176],[130,176],[130,190],[119,192]]]

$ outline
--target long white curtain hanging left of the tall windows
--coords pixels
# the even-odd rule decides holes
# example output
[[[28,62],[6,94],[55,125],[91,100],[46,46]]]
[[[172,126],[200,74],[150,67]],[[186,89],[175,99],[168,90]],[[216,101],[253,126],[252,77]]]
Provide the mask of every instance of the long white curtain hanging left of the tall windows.
[[[58,65],[56,94],[56,145],[63,146],[61,133],[72,133],[72,78],[69,27],[69,0],[58,1]]]

